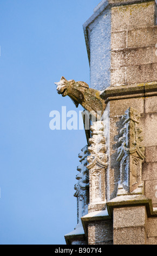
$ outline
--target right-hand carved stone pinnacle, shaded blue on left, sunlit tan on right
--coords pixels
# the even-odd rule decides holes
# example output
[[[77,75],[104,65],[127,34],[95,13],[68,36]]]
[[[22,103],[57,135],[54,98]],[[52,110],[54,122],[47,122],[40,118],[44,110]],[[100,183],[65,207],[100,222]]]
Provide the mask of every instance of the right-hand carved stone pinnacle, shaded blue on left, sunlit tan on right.
[[[141,183],[142,160],[145,158],[145,148],[141,146],[139,120],[140,114],[130,107],[122,116],[123,127],[120,131],[117,161],[120,161],[120,182],[127,192],[132,192]]]

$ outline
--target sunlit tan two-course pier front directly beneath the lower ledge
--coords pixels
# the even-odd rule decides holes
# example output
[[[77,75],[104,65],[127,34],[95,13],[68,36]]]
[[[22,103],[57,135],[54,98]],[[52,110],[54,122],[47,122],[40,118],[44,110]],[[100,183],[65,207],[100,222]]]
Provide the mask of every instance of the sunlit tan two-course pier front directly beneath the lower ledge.
[[[145,206],[115,208],[113,214],[114,245],[144,245],[147,241]]]

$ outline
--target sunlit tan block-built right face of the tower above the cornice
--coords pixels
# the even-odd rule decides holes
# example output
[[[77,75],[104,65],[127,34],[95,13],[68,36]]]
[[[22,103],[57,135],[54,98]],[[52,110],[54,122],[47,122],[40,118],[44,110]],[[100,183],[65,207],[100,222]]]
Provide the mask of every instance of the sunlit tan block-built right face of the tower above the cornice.
[[[154,1],[112,8],[112,86],[156,80],[154,13]]]

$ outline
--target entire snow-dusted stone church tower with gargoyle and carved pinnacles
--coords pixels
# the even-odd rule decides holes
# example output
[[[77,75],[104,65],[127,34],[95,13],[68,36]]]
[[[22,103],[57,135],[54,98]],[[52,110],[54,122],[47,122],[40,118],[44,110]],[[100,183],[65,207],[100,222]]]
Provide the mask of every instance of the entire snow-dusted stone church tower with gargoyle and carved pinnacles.
[[[103,113],[78,155],[69,245],[157,244],[156,16],[155,1],[103,0],[83,25],[90,88],[66,95]]]

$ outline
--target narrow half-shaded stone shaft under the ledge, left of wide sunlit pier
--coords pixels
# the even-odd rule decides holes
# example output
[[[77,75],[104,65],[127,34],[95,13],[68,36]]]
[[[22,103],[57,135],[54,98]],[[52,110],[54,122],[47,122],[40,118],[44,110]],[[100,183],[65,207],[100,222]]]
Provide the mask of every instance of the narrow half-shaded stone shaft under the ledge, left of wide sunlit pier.
[[[104,221],[88,224],[89,245],[113,244],[113,222]]]

